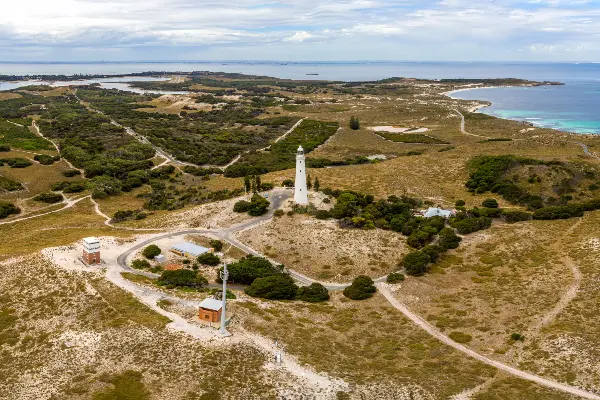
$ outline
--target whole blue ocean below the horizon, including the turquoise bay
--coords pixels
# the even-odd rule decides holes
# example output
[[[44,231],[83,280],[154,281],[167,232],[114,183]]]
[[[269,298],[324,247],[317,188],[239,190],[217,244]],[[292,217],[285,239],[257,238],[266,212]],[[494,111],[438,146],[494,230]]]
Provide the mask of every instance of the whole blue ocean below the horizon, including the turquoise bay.
[[[526,120],[575,133],[600,134],[600,63],[498,62],[0,62],[0,75],[127,74],[145,71],[213,71],[267,75],[284,79],[369,81],[390,77],[423,79],[521,78],[564,82],[565,86],[461,91],[453,97],[487,100],[480,112]],[[0,83],[0,90],[14,88]],[[109,87],[106,82],[103,86]],[[123,83],[113,87],[124,88]]]

